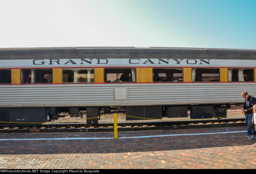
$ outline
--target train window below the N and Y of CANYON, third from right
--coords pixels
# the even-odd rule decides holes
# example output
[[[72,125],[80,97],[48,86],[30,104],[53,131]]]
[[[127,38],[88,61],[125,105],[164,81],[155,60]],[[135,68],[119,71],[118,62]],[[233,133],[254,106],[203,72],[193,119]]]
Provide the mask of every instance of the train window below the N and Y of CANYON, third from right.
[[[183,82],[183,69],[153,68],[153,82]]]

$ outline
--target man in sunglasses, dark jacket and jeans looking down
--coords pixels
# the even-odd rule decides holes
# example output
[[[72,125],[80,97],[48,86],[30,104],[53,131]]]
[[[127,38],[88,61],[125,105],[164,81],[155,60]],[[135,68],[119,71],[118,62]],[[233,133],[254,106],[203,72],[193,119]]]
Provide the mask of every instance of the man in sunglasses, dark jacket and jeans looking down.
[[[245,137],[251,137],[252,136],[252,128],[251,128],[252,109],[253,109],[253,106],[256,104],[256,101],[255,101],[255,98],[250,96],[246,91],[242,92],[242,97],[245,99],[242,111],[245,112],[245,123],[248,125],[247,127],[248,135],[246,135]]]

